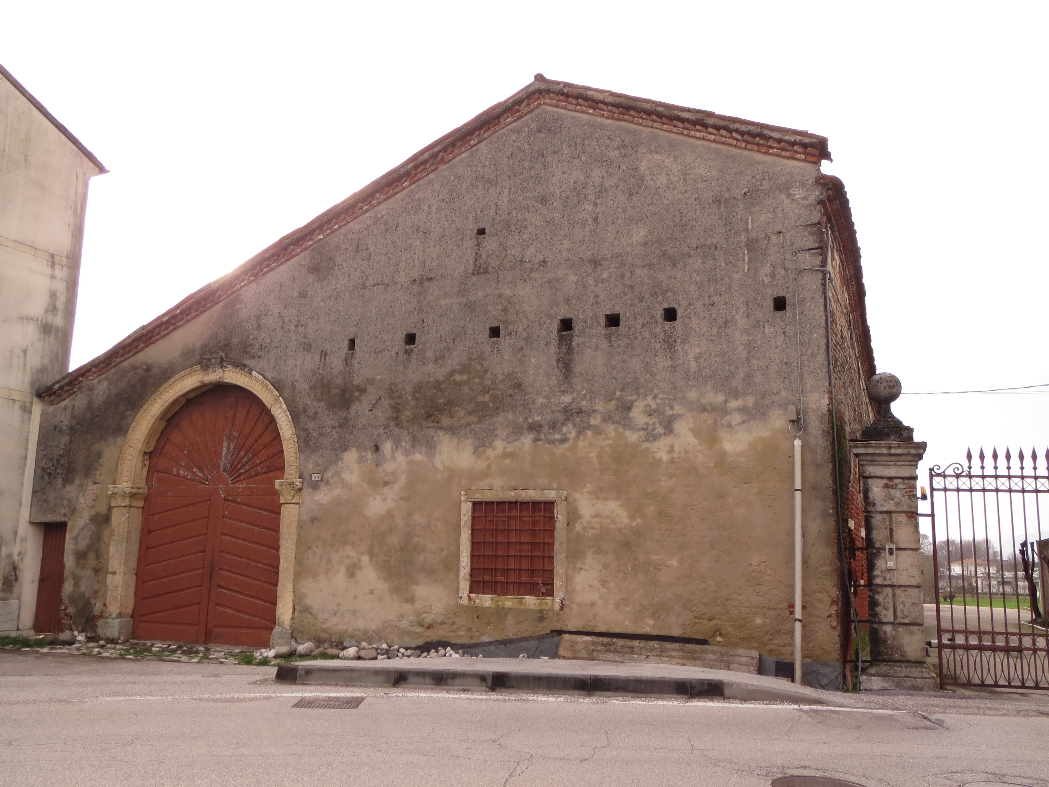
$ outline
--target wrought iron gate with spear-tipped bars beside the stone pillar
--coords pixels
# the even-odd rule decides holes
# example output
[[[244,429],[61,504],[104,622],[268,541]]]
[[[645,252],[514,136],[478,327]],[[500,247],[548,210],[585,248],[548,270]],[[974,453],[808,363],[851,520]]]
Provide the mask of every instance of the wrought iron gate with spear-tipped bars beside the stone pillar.
[[[1002,459],[929,471],[941,686],[1049,689],[1049,450]]]

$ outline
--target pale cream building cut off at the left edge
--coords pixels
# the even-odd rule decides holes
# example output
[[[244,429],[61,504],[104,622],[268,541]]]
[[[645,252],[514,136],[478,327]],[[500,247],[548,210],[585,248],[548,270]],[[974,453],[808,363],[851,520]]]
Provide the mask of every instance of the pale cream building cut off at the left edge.
[[[64,528],[29,519],[34,392],[69,369],[87,185],[105,171],[0,66],[0,632],[34,629],[38,594],[58,612],[61,571],[38,580],[45,538],[60,557]]]

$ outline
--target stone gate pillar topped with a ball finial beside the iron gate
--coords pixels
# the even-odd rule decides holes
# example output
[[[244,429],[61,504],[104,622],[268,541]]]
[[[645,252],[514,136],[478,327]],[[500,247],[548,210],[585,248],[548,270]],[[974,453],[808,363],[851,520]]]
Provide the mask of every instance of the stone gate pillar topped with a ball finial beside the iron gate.
[[[862,688],[934,689],[937,682],[925,664],[925,611],[922,603],[921,539],[918,531],[918,463],[925,443],[914,441],[891,409],[900,396],[894,375],[868,382],[878,418],[852,440],[859,461],[866,523],[868,599],[871,665]]]

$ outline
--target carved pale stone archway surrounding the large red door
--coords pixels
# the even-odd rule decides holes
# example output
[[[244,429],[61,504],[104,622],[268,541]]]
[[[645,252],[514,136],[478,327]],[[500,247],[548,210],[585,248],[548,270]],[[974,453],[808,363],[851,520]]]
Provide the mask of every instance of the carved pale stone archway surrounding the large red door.
[[[106,603],[99,621],[103,639],[130,639],[134,608],[142,507],[146,502],[149,454],[165,424],[179,407],[215,385],[238,385],[257,396],[273,413],[284,449],[284,478],[274,482],[280,494],[280,574],[277,580],[277,625],[273,641],[291,639],[294,612],[295,543],[302,503],[299,443],[287,405],[265,378],[256,371],[228,366],[221,357],[206,358],[199,366],[175,375],[159,387],[135,416],[124,440],[115,483],[109,487],[109,568]]]

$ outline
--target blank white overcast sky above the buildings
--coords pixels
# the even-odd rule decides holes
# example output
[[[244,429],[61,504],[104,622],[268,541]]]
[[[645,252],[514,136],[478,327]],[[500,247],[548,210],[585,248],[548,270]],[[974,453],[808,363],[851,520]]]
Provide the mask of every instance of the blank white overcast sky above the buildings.
[[[829,136],[878,369],[904,390],[1049,383],[1045,3],[2,14],[0,63],[111,170],[91,185],[73,366],[541,71]],[[968,444],[1044,451],[1047,407],[1018,393],[894,409],[946,464]]]

